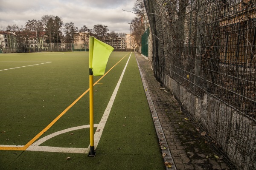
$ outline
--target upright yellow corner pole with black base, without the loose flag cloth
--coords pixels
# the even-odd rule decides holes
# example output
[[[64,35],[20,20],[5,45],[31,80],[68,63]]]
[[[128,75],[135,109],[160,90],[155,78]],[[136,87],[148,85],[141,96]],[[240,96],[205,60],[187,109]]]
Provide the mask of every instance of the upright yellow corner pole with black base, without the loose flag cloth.
[[[90,37],[89,41],[89,65],[93,57],[94,37]],[[95,156],[94,150],[94,125],[93,125],[93,69],[89,67],[89,88],[90,88],[90,153],[88,156]]]

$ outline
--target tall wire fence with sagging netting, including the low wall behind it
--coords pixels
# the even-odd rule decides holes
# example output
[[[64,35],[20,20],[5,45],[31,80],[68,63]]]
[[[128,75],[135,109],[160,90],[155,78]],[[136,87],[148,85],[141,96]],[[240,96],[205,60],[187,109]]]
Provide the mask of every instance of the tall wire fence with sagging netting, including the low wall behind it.
[[[256,1],[144,3],[157,80],[232,169],[256,169]]]

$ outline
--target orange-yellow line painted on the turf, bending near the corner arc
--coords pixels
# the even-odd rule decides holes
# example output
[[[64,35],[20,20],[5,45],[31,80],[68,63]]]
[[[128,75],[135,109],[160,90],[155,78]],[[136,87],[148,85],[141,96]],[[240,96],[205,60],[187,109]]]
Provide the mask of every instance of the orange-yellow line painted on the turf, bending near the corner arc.
[[[128,54],[126,54],[125,57]],[[124,59],[125,57],[123,57],[122,59]],[[111,69],[109,69],[108,72],[111,71],[122,59],[120,59]],[[108,74],[108,72],[105,73],[101,78],[99,78],[93,84],[93,86],[96,85],[103,77],[105,77],[105,75]],[[61,116],[63,116],[73,105],[75,105],[76,102],[78,102],[88,91],[89,91],[89,88],[83,94],[81,94],[81,96],[79,96],[71,105],[69,105],[61,114],[59,114],[47,127],[45,127],[40,133],[38,133],[33,139],[31,139],[26,145],[24,145],[23,147],[0,147],[0,150],[26,150],[40,136],[42,136],[50,127],[52,127],[52,125],[54,125],[58,121],[58,119],[60,119]]]

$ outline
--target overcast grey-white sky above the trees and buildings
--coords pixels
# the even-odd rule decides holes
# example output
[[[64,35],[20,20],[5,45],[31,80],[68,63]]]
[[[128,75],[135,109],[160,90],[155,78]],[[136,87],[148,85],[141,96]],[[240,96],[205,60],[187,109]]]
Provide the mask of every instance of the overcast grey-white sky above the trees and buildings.
[[[109,32],[130,33],[131,12],[136,0],[0,0],[0,28],[25,25],[28,20],[41,20],[43,15],[61,17],[78,29],[94,25],[108,26]]]

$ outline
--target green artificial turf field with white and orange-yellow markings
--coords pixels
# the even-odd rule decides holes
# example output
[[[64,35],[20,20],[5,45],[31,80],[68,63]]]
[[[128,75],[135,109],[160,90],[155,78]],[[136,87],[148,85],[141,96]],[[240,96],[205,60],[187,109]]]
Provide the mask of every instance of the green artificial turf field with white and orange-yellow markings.
[[[0,54],[0,170],[165,169],[134,54],[94,77],[95,157],[88,88],[88,52]]]

